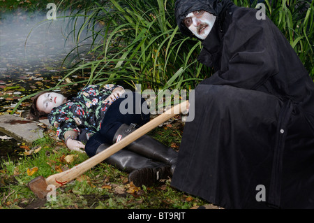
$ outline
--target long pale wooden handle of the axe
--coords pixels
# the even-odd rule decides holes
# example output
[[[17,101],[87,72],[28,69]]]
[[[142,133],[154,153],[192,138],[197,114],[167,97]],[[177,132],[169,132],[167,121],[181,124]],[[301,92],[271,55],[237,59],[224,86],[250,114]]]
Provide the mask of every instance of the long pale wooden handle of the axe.
[[[137,140],[137,138],[144,136],[144,134],[147,134],[152,129],[158,127],[158,125],[169,120],[171,117],[174,117],[174,115],[183,113],[184,111],[186,111],[187,106],[188,101],[184,101],[176,106],[173,106],[170,110],[166,110],[165,113],[158,115],[158,117],[154,118],[154,120],[147,122],[147,124],[144,124],[139,129],[133,131],[131,134],[123,138],[118,143],[115,143],[106,150],[103,150],[102,152],[99,152],[98,154],[94,155],[94,157],[87,159],[86,161],[82,162],[81,164],[78,164],[77,166],[74,166],[73,168],[70,168],[68,171],[50,175],[48,178],[45,179],[47,185],[54,185],[56,187],[60,187],[62,185],[65,185],[67,182],[74,180],[78,176],[82,175],[82,173],[88,171],[93,166],[96,166],[101,161],[110,157],[112,154],[125,148],[127,145]]]

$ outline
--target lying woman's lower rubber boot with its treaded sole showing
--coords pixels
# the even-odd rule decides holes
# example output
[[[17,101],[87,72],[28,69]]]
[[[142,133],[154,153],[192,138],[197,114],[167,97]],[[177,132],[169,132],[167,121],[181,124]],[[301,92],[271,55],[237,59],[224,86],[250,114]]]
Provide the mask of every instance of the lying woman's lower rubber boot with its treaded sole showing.
[[[96,154],[110,147],[109,144],[102,144],[98,147]],[[140,154],[128,150],[119,150],[105,159],[121,171],[128,172],[128,181],[133,182],[136,187],[145,185],[151,187],[161,179],[167,179],[172,175],[170,166],[158,161],[142,157]]]

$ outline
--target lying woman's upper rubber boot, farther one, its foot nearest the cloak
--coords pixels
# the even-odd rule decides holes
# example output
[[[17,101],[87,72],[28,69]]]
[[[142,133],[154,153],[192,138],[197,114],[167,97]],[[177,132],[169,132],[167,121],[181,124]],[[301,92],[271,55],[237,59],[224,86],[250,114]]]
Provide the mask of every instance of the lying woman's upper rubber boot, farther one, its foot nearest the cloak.
[[[120,141],[122,138],[135,130],[135,124],[130,124],[130,126],[127,124],[122,124],[114,135],[114,143]],[[130,143],[130,145],[126,147],[126,150],[141,154],[142,156],[148,157],[149,159],[169,164],[171,166],[172,173],[177,164],[178,152],[172,150],[172,148],[168,148],[167,146],[163,145],[163,143],[160,143],[156,139],[147,135],[144,135],[133,143]]]

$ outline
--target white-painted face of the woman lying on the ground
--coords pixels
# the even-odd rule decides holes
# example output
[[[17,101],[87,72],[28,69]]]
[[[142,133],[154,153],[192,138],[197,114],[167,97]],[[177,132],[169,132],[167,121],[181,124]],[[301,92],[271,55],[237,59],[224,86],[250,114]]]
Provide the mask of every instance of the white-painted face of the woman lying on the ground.
[[[54,107],[61,106],[66,102],[66,98],[59,93],[47,92],[38,96],[36,107],[38,110],[49,114]]]

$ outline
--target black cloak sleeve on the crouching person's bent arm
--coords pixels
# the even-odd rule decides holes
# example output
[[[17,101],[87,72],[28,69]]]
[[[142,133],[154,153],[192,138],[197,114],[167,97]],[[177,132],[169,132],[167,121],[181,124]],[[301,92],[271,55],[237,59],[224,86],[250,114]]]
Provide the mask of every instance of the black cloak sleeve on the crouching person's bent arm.
[[[278,73],[271,20],[257,20],[256,10],[237,10],[223,38],[220,69],[201,84],[256,89]],[[275,36],[276,38],[276,36]]]

